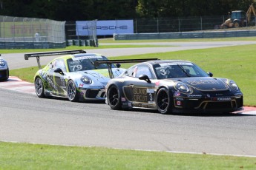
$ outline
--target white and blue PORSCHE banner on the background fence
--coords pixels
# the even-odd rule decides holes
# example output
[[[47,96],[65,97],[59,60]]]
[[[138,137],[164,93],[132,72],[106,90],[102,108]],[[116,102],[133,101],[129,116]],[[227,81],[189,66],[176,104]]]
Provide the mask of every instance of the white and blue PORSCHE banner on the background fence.
[[[96,29],[96,35],[113,35],[114,33],[134,33],[133,20],[96,21],[96,28],[91,21],[76,21],[76,35],[90,35]]]

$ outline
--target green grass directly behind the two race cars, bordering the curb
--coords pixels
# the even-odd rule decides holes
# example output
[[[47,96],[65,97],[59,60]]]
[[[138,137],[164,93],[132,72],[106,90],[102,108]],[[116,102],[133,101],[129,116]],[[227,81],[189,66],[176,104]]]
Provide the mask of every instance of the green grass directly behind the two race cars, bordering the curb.
[[[181,59],[192,61],[202,67],[206,72],[212,72],[214,77],[230,78],[237,82],[244,95],[246,106],[256,106],[256,74],[255,74],[255,48],[256,45],[236,47],[219,47],[203,50],[184,50],[177,52],[161,52],[144,55],[129,55],[113,57],[124,58],[160,58]],[[129,67],[131,64],[123,64]],[[10,70],[10,75],[16,75],[24,81],[33,82],[33,75],[38,67]]]

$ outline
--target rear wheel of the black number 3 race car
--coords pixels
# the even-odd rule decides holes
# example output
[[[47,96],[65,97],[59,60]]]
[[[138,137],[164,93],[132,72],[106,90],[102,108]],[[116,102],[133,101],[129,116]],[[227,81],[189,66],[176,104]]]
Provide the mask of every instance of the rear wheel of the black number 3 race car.
[[[108,89],[107,98],[108,98],[108,104],[109,106],[111,106],[111,109],[114,109],[114,110],[122,109],[120,92],[116,86],[111,86]]]

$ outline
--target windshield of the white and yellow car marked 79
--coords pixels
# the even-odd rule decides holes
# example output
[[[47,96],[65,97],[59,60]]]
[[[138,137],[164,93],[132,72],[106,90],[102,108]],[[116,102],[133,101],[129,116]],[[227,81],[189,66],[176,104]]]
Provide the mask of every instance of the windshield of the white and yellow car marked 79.
[[[108,61],[108,58],[102,55],[85,55],[67,60],[70,72],[78,72],[91,69],[108,69],[107,64],[99,64],[99,67],[93,65],[94,61]],[[114,66],[112,66],[114,67]]]

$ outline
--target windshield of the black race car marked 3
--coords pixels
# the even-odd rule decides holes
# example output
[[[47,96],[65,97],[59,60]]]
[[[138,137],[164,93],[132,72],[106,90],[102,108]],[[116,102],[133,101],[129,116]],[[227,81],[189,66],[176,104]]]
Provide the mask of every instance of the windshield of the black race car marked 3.
[[[164,78],[187,78],[187,77],[209,77],[209,75],[197,67],[197,65],[188,62],[166,62],[154,65],[158,79]]]

